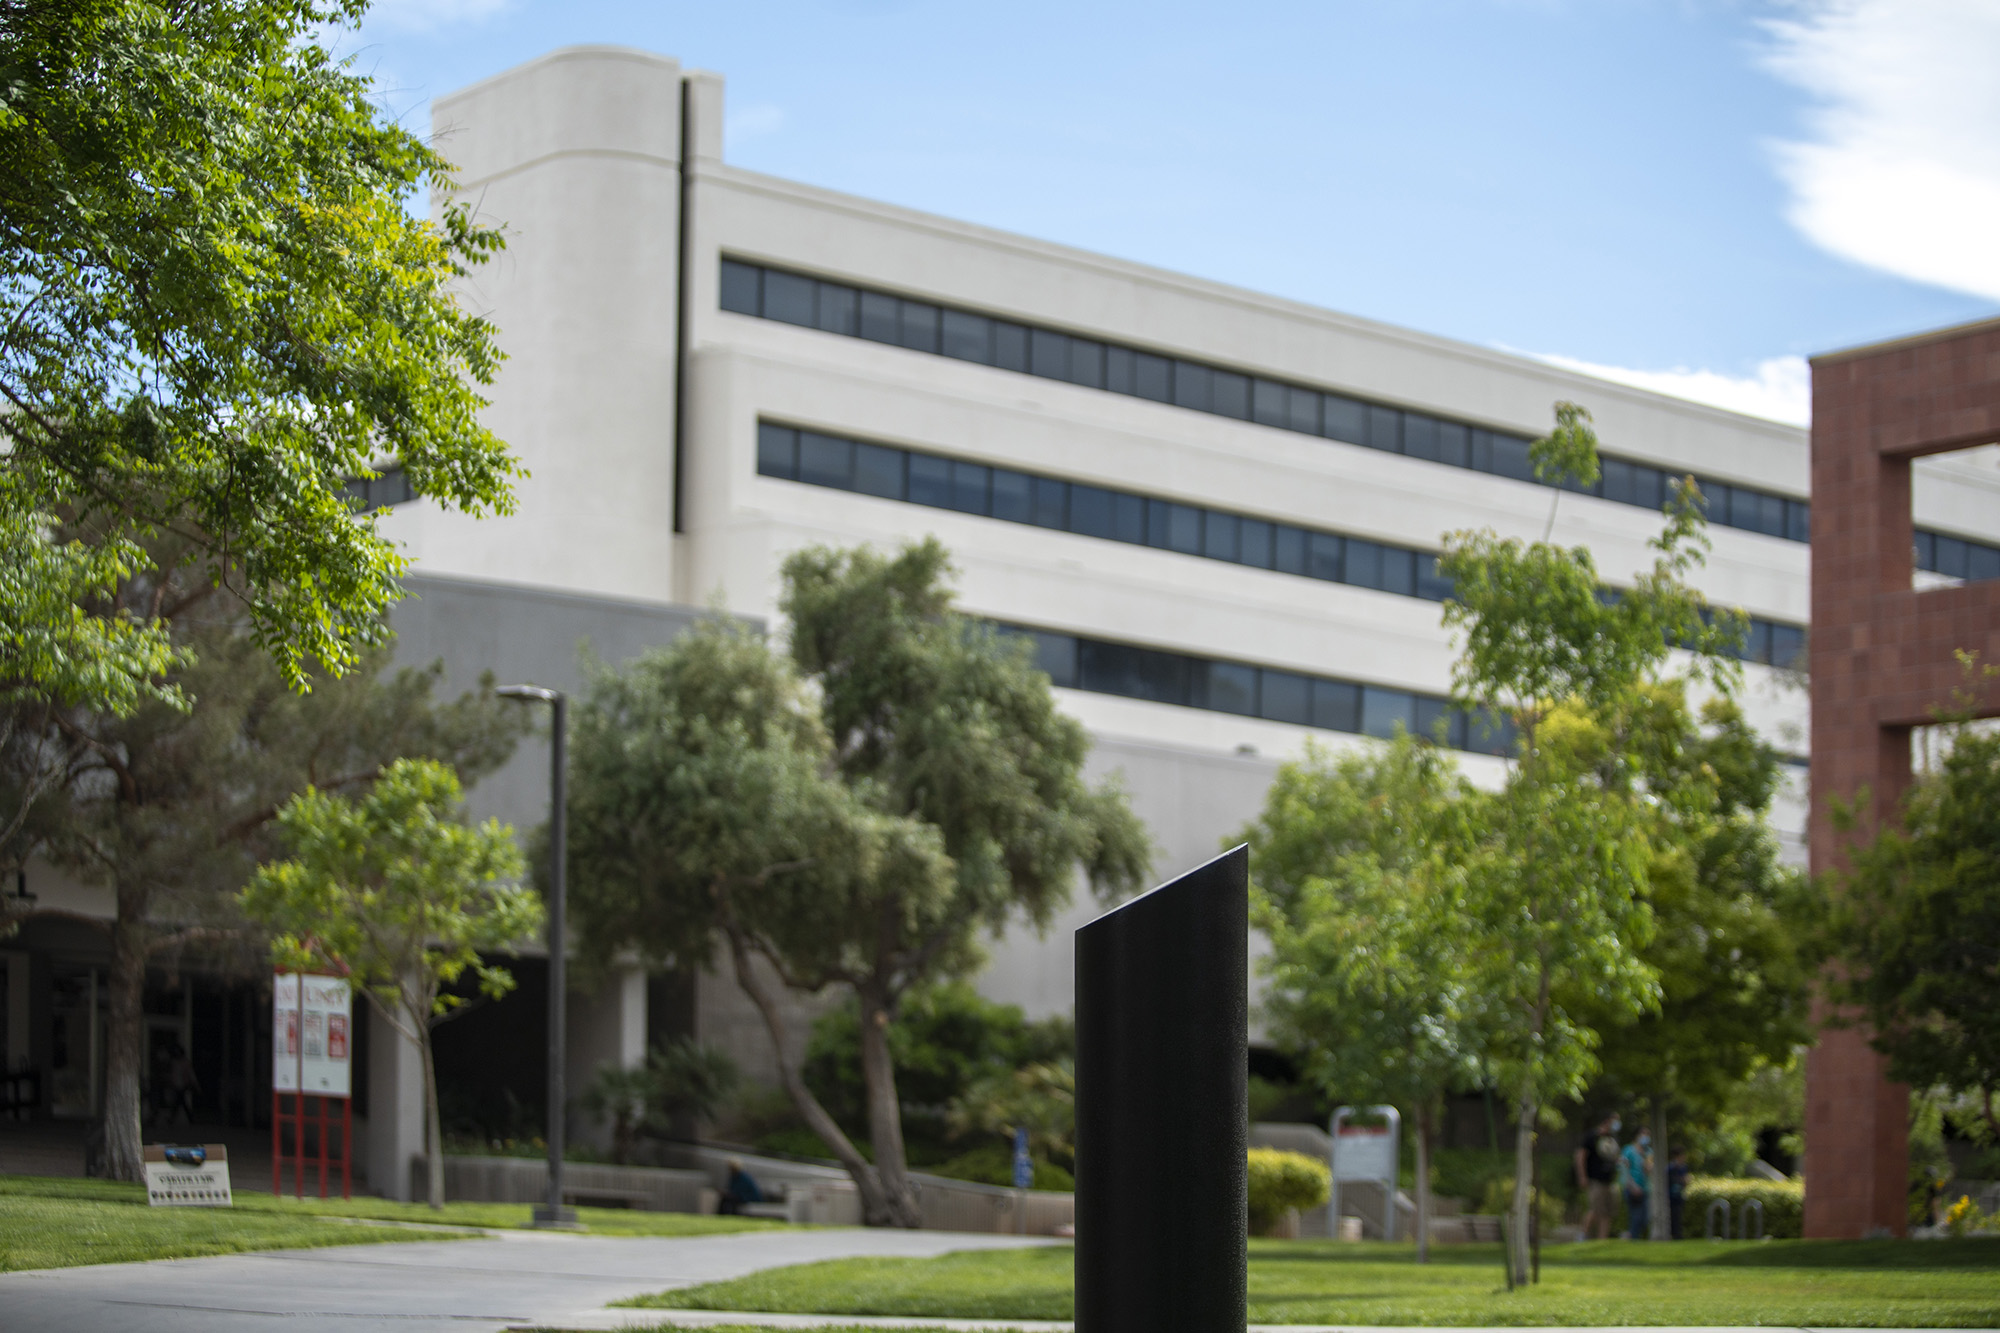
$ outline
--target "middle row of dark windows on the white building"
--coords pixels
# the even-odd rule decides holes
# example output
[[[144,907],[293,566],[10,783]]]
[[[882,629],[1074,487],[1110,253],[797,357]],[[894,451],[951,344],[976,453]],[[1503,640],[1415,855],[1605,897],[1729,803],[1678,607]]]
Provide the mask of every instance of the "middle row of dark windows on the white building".
[[[1134,546],[1158,546],[1430,602],[1442,602],[1452,594],[1452,580],[1438,572],[1438,556],[1428,550],[1086,486],[1060,476],[870,444],[770,420],[758,422],[756,470],[762,476],[808,486],[952,508]],[[1804,628],[1752,618],[1742,656],[1788,666],[1804,646]]]

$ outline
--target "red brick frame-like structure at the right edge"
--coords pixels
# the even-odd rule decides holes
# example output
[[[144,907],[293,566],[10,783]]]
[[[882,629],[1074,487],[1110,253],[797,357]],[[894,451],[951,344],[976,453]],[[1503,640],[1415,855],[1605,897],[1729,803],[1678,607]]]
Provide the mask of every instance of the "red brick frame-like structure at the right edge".
[[[1910,729],[2000,662],[2000,580],[1912,590],[1910,460],[2000,440],[2000,320],[1812,362],[1812,869],[1840,865],[1830,799],[1862,829],[1910,785]],[[2000,715],[2000,689],[1982,713]],[[1854,1029],[1806,1061],[1806,1235],[1902,1235],[1908,1089]]]

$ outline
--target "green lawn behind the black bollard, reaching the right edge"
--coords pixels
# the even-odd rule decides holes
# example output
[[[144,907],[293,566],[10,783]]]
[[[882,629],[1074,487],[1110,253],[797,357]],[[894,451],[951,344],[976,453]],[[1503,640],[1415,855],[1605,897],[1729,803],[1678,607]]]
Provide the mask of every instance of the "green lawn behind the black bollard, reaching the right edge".
[[[1066,1245],[940,1259],[838,1259],[628,1305],[918,1319],[1070,1319]],[[1250,1243],[1252,1323],[2000,1325],[2000,1241],[1596,1241],[1544,1251],[1506,1291],[1498,1245]]]

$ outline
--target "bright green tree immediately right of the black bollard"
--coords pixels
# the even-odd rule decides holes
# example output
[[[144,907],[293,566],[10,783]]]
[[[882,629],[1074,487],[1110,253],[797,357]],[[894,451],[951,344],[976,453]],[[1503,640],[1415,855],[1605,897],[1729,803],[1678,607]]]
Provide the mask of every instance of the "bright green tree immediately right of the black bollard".
[[[1430,1153],[1444,1097],[1476,1085],[1482,1003],[1458,935],[1458,867],[1482,797],[1438,747],[1398,735],[1278,771],[1240,835],[1270,939],[1272,1037],[1328,1099],[1400,1107],[1416,1135],[1416,1261],[1430,1259]]]

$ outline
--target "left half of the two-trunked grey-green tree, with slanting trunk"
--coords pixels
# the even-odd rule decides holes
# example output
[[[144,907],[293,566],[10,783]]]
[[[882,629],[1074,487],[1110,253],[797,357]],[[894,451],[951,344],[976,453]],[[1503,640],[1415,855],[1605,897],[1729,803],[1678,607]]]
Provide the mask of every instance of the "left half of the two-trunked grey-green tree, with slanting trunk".
[[[586,963],[636,949],[700,967],[722,943],[786,1095],[882,1225],[882,1177],[806,1085],[782,997],[848,979],[854,921],[934,925],[952,871],[934,831],[868,805],[832,759],[798,673],[742,624],[706,620],[598,673],[570,749],[572,913]]]

